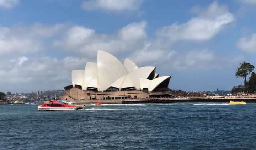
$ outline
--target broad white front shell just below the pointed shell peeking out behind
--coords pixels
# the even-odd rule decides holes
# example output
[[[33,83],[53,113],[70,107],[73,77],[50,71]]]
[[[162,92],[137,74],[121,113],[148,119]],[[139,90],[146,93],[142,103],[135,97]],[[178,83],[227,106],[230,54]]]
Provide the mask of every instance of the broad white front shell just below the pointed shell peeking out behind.
[[[138,90],[140,89],[140,78],[147,79],[152,71],[155,70],[155,67],[140,67],[136,70],[133,70],[129,73],[129,77],[134,84],[134,87]]]

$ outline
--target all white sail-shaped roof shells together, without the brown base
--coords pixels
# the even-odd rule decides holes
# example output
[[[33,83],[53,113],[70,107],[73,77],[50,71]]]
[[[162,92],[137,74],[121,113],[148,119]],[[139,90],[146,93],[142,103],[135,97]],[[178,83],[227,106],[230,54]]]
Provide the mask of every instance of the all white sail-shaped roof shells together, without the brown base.
[[[97,63],[87,62],[85,70],[72,71],[72,85],[80,85],[83,90],[97,88],[98,91],[105,91],[110,87],[123,88],[135,87],[137,90],[148,88],[153,91],[158,85],[159,88],[167,87],[170,76],[159,77],[155,73],[155,67],[140,67],[131,61],[125,60],[124,65],[108,52],[98,50]]]

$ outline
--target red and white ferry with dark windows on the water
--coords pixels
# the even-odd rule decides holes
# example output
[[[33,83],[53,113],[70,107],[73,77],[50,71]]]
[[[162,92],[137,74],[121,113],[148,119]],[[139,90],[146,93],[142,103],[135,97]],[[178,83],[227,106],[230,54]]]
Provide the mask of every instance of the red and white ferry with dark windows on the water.
[[[38,105],[38,110],[76,110],[76,106],[72,105],[72,103],[51,100],[47,103]]]

